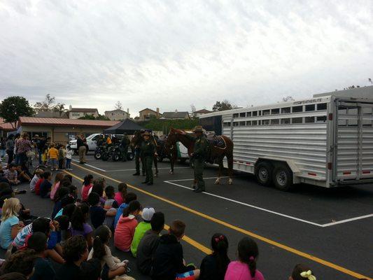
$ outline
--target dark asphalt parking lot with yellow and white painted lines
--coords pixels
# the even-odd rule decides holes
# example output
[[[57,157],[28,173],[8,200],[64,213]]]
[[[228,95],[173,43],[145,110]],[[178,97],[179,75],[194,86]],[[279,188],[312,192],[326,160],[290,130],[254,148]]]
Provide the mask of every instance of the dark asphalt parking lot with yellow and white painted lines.
[[[237,173],[234,184],[214,185],[217,169],[207,167],[206,193],[192,193],[192,169],[178,164],[169,174],[169,162],[158,163],[153,186],[132,176],[134,162],[103,162],[88,156],[87,165],[73,162],[76,186],[85,174],[103,176],[109,185],[124,181],[143,207],[163,211],[166,223],[178,218],[187,224],[183,241],[187,262],[199,265],[209,252],[215,232],[227,235],[230,258],[236,259],[239,239],[253,237],[260,248],[258,269],[266,279],[288,279],[297,263],[307,263],[318,279],[359,279],[373,276],[373,186],[328,190],[298,186],[292,193],[258,185],[253,176]],[[52,202],[29,193],[20,197],[36,215],[50,216]],[[120,258],[129,258],[114,251]],[[132,260],[131,258],[129,258]],[[136,273],[132,276],[148,279]]]

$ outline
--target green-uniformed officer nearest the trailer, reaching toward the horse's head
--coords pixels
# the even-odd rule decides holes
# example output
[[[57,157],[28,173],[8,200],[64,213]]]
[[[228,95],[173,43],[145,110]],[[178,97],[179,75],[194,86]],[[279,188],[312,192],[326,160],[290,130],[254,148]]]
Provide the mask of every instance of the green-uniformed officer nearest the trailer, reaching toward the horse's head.
[[[206,161],[208,144],[206,137],[204,137],[204,130],[202,126],[197,125],[193,132],[195,132],[196,138],[191,137],[185,132],[183,134],[195,141],[193,153],[190,154],[195,167],[195,183],[197,184],[197,188],[195,188],[193,192],[202,193],[205,191],[204,162]]]

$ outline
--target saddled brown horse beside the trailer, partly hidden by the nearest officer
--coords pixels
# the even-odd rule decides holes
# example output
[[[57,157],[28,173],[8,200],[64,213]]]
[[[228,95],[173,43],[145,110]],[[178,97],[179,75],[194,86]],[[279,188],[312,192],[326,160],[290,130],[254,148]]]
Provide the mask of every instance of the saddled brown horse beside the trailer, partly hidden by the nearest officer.
[[[224,145],[222,147],[215,146],[213,144],[210,144],[210,153],[208,155],[208,158],[206,159],[209,162],[218,162],[219,165],[219,173],[218,173],[218,179],[216,179],[215,183],[220,183],[220,177],[224,169],[223,165],[223,158],[227,157],[228,162],[228,175],[230,179],[228,180],[228,184],[232,185],[233,180],[233,142],[229,137],[226,137],[224,135],[218,136],[223,142]],[[181,143],[188,148],[188,154],[190,156],[191,153],[193,153],[193,148],[195,146],[195,141],[192,141],[188,137],[185,137],[181,130],[176,130],[174,128],[171,128],[169,135],[167,136],[167,146],[176,146],[176,142],[181,141]]]

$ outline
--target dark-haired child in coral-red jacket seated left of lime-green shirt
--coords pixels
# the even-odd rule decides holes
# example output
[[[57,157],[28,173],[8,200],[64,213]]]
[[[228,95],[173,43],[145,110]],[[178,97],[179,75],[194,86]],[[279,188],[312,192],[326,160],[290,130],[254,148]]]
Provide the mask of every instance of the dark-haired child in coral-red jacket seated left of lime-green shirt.
[[[114,245],[121,251],[128,252],[131,249],[134,230],[137,225],[136,216],[141,211],[141,204],[137,200],[129,203],[118,221],[114,233]]]

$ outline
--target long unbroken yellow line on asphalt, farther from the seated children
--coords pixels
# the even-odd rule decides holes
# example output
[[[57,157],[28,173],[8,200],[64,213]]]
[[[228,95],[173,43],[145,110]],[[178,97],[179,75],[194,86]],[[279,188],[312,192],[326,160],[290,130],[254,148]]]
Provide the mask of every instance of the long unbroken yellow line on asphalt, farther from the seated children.
[[[76,164],[73,163],[73,165],[76,165]],[[113,178],[111,178],[111,177],[109,177],[109,176],[106,176],[106,175],[104,175],[104,174],[100,174],[99,172],[95,172],[95,171],[93,171],[93,170],[87,169],[87,168],[82,167],[82,166],[80,166],[80,165],[76,165],[76,167],[79,167],[79,168],[81,168],[81,169],[85,169],[85,170],[87,170],[88,172],[95,173],[95,174],[97,174],[97,175],[99,175],[99,176],[102,176],[102,177],[104,177],[104,178],[106,178],[106,179],[109,179],[109,180],[111,180],[111,181],[114,181],[114,182],[116,182],[116,183],[122,183],[122,181],[119,181],[119,180],[113,179]],[[341,267],[341,266],[339,266],[339,265],[335,265],[334,263],[329,262],[328,260],[323,260],[323,259],[321,259],[321,258],[318,258],[318,257],[314,256],[314,255],[310,255],[310,254],[308,254],[308,253],[304,253],[304,252],[302,252],[302,251],[300,251],[300,250],[297,250],[297,249],[295,249],[295,248],[292,248],[292,247],[290,247],[290,246],[287,246],[287,245],[281,244],[281,243],[279,243],[279,242],[277,242],[277,241],[274,241],[274,240],[272,240],[272,239],[268,239],[267,237],[262,237],[261,235],[257,235],[257,234],[254,233],[254,232],[251,232],[251,231],[248,231],[248,230],[244,230],[243,228],[239,228],[239,227],[237,227],[236,225],[231,225],[230,223],[227,223],[227,222],[225,222],[225,221],[221,221],[221,220],[219,220],[219,219],[217,219],[217,218],[213,218],[213,217],[208,216],[208,215],[206,215],[206,214],[203,214],[203,213],[201,213],[201,212],[199,212],[199,211],[197,211],[197,210],[195,210],[195,209],[191,209],[191,208],[189,208],[189,207],[185,207],[185,206],[182,205],[182,204],[178,204],[178,203],[173,202],[173,201],[171,201],[171,200],[167,200],[167,198],[160,197],[160,196],[155,195],[155,194],[153,194],[153,193],[149,193],[149,192],[147,192],[146,190],[142,190],[141,188],[137,188],[137,187],[135,187],[135,186],[131,186],[131,185],[129,185],[129,184],[127,184],[127,186],[128,186],[129,188],[132,188],[132,189],[134,189],[134,190],[139,191],[140,193],[144,193],[144,194],[146,194],[146,195],[149,195],[150,197],[154,197],[154,198],[156,198],[157,200],[161,200],[161,201],[163,201],[163,202],[167,202],[168,204],[174,205],[174,207],[178,207],[178,208],[180,208],[180,209],[183,209],[183,210],[185,210],[185,211],[188,211],[188,212],[190,212],[190,213],[192,213],[192,214],[195,214],[195,215],[197,215],[197,216],[200,216],[200,217],[202,217],[202,218],[206,218],[207,220],[209,220],[209,221],[213,221],[214,223],[218,223],[218,224],[220,224],[220,225],[224,225],[226,228],[230,228],[230,229],[235,230],[235,231],[237,231],[237,232],[241,232],[241,233],[243,233],[244,235],[248,235],[248,236],[250,236],[250,237],[253,237],[253,238],[255,238],[255,239],[258,239],[258,240],[260,240],[260,241],[263,241],[263,242],[265,242],[265,243],[267,243],[267,244],[271,244],[272,246],[276,246],[276,247],[278,247],[278,248],[282,248],[283,250],[288,251],[288,252],[290,252],[290,253],[294,253],[295,255],[300,255],[300,256],[302,256],[303,258],[308,258],[309,260],[313,260],[314,262],[318,262],[318,263],[320,263],[321,265],[325,265],[325,266],[327,266],[327,267],[331,267],[331,268],[333,268],[333,269],[338,270],[339,272],[343,272],[344,274],[348,274],[348,275],[353,276],[353,277],[356,277],[356,278],[358,278],[358,279],[365,278],[365,279],[373,280],[373,279],[371,279],[371,278],[368,277],[368,276],[364,276],[363,274],[359,274],[358,272],[353,272],[353,271],[350,270],[350,269],[347,269],[347,268]],[[203,245],[202,245],[202,246],[203,246]],[[197,247],[197,248],[198,248],[198,247]],[[206,248],[206,247],[205,247],[205,248]],[[202,250],[201,250],[201,251],[202,251]]]

